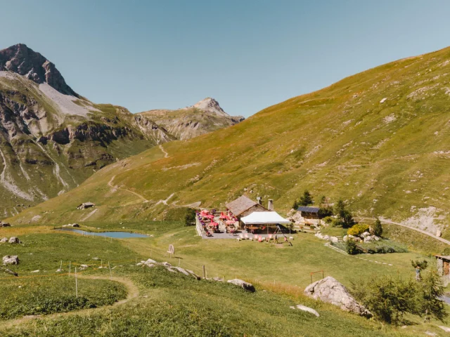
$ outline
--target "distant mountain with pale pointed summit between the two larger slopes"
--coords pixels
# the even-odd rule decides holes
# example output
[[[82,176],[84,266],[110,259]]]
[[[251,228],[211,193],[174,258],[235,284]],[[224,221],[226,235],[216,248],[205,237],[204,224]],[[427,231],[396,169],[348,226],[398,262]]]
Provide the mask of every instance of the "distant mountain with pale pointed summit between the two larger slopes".
[[[179,110],[150,110],[140,115],[152,119],[180,140],[233,126],[244,120],[242,116],[230,116],[224,112],[214,98],[205,98]]]

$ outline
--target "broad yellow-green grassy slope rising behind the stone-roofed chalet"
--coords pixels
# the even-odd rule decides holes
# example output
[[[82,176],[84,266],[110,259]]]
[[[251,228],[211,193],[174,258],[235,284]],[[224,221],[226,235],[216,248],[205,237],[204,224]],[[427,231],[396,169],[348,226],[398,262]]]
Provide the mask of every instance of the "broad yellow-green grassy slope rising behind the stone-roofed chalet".
[[[168,218],[167,209],[196,201],[221,207],[243,193],[270,197],[283,212],[307,188],[397,220],[434,206],[443,223],[450,210],[449,81],[450,48],[382,65],[231,128],[108,166],[11,221],[39,215],[42,223],[79,222],[87,211],[75,206],[86,198],[98,205],[90,220],[104,221]]]

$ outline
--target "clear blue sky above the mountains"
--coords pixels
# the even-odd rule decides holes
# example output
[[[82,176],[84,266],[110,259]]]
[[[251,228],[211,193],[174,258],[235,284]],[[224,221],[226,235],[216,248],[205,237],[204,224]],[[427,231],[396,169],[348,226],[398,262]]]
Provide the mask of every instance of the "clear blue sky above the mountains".
[[[72,88],[131,112],[216,98],[264,107],[450,45],[448,0],[0,0],[0,48],[25,43]]]

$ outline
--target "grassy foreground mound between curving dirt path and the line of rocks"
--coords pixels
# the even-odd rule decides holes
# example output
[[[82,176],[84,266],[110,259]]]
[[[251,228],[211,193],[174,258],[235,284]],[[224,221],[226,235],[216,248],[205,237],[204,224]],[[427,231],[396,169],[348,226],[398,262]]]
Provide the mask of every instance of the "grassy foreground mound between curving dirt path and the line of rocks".
[[[101,272],[107,275],[106,271]],[[1,336],[422,336],[434,324],[394,329],[293,293],[248,293],[163,268],[124,267],[116,274],[139,286],[139,298],[113,308],[39,319]],[[258,286],[258,284],[257,284]],[[302,303],[321,317],[289,307]],[[420,334],[418,334],[420,333]]]

